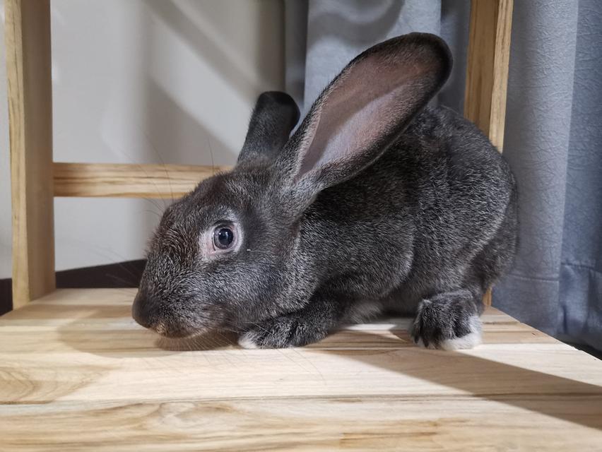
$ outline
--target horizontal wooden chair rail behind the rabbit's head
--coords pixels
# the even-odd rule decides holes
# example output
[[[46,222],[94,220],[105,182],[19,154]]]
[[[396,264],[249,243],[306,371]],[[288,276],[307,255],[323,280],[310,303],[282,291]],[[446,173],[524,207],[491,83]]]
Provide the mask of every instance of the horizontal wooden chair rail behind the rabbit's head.
[[[178,198],[226,166],[54,163],[54,196]]]

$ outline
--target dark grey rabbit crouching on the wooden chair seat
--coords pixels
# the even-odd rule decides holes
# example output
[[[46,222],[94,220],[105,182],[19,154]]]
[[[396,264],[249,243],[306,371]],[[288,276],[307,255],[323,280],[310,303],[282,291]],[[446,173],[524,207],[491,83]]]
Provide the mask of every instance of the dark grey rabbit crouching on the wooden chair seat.
[[[381,42],[290,137],[293,99],[260,95],[234,169],[165,210],[134,319],[277,348],[394,310],[423,347],[480,343],[483,294],[517,248],[517,186],[474,124],[428,105],[450,69],[435,35]]]

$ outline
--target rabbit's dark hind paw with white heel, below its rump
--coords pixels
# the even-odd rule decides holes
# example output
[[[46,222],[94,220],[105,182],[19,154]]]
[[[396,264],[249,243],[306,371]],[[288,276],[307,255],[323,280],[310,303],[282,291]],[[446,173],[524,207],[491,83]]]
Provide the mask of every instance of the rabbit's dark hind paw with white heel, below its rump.
[[[411,335],[427,348],[459,350],[481,343],[481,323],[468,291],[423,299],[418,306]]]

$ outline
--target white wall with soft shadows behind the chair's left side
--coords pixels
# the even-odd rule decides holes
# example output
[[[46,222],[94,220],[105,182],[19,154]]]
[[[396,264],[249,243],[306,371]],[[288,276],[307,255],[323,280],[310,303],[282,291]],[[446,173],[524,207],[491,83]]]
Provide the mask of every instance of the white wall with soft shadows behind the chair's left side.
[[[232,164],[256,95],[283,88],[281,0],[51,4],[56,161],[207,165],[213,151],[216,165]],[[0,57],[0,278],[6,278],[4,47]],[[57,269],[141,258],[163,207],[154,200],[57,198]]]

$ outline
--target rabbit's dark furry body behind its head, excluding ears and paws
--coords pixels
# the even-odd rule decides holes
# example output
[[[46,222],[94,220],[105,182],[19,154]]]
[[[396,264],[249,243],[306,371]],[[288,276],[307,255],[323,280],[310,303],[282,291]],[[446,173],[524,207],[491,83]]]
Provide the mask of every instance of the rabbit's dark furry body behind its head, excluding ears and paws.
[[[324,282],[358,296],[489,285],[512,261],[515,204],[512,172],[488,138],[450,109],[427,108],[379,160],[318,196],[303,252],[331,269]]]

